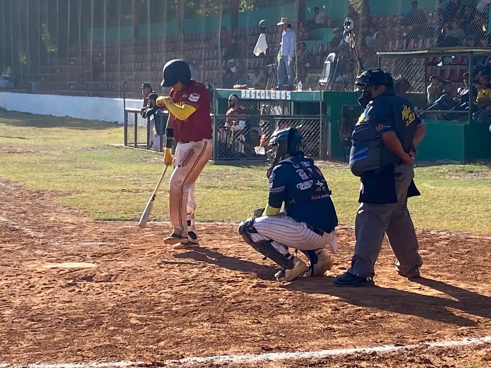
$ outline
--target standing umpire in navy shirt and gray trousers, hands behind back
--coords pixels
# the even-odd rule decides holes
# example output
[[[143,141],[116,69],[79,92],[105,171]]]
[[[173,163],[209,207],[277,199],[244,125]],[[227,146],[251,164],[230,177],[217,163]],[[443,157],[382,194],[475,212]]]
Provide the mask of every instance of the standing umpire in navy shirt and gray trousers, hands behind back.
[[[397,272],[417,278],[422,261],[407,200],[420,195],[413,181],[413,160],[425,125],[409,101],[396,95],[389,73],[363,72],[355,88],[362,91],[358,103],[364,109],[353,131],[350,153],[350,169],[361,178],[355,255],[348,271],[333,283],[373,286],[384,234],[397,257]]]

